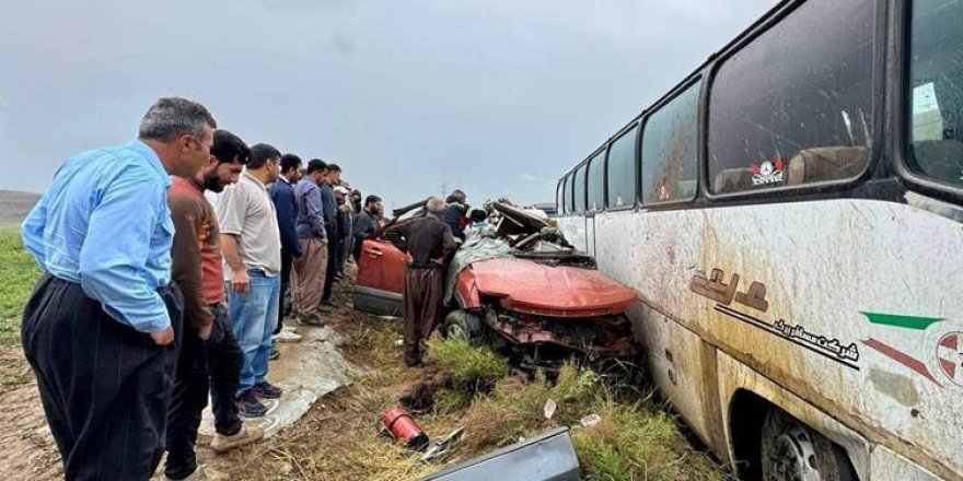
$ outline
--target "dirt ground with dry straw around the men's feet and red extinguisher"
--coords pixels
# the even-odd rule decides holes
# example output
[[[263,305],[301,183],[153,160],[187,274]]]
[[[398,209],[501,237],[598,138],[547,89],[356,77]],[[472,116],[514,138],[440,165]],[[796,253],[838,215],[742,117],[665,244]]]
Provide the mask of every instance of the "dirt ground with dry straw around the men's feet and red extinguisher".
[[[350,304],[349,282],[336,285],[335,301],[339,307],[326,320],[345,339],[339,351],[352,366],[351,383],[320,398],[300,421],[264,442],[217,455],[208,447],[210,437],[200,436],[200,462],[239,481],[411,480],[496,447],[466,446],[455,449],[443,462],[427,465],[419,460],[418,454],[379,436],[376,423],[382,413],[398,406],[399,398],[410,394],[413,386],[422,385],[426,379],[444,373],[431,362],[425,369],[405,367],[402,348],[396,343],[401,322],[355,312]],[[282,356],[286,349],[289,348],[281,344]],[[0,410],[0,446],[3,446],[0,449],[0,480],[61,479],[59,454],[19,347],[0,347],[0,401],[4,407]],[[468,402],[473,402],[471,396]],[[541,412],[541,403],[538,406]],[[468,414],[464,407],[446,410],[438,406],[424,410],[414,408],[411,412],[432,438],[465,425]],[[471,419],[468,421],[471,424]],[[671,421],[669,423],[672,427]],[[474,430],[475,434],[483,431],[477,422]],[[650,479],[723,479],[717,468],[706,461],[705,455],[685,446],[677,431],[674,427],[672,431],[666,437],[670,441],[663,442],[662,448],[666,455],[680,458],[694,456],[704,471],[693,471],[700,473],[697,478],[686,473],[683,477],[671,474]],[[703,472],[707,474],[703,477]],[[163,477],[159,474],[154,479]]]

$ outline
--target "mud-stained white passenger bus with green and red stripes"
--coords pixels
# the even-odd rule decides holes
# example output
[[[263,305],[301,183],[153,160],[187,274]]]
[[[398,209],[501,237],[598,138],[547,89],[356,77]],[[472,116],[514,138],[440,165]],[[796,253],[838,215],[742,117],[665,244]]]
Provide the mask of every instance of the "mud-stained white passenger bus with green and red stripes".
[[[782,2],[557,196],[740,477],[963,479],[963,0]]]

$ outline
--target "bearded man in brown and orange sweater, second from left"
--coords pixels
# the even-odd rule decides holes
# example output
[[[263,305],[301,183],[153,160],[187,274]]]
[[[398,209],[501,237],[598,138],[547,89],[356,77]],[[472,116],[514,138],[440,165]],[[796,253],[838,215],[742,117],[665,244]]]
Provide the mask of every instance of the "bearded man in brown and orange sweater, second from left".
[[[210,390],[208,343],[233,347],[229,353],[218,353],[216,365],[219,369],[213,377],[220,384],[233,385],[227,392],[220,390],[213,395],[217,437],[211,445],[217,450],[223,450],[225,446],[241,446],[264,436],[260,427],[241,424],[234,404],[243,357],[230,327],[224,328],[230,320],[227,319],[224,307],[218,221],[213,208],[204,197],[205,190],[220,192],[224,186],[236,183],[243,165],[250,159],[251,150],[241,139],[227,130],[217,130],[210,161],[200,173],[193,178],[174,177],[167,189],[167,202],[176,230],[171,251],[171,273],[184,293],[184,336],[167,415],[167,464],[164,474],[169,480],[223,479],[223,474],[205,465],[198,466],[194,449]],[[212,331],[217,331],[217,335],[212,336]],[[230,339],[225,340],[225,336]]]

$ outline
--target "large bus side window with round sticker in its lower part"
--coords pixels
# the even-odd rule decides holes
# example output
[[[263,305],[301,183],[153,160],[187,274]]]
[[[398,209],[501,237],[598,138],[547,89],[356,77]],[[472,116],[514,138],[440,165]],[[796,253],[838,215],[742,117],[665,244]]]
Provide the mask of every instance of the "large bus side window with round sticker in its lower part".
[[[811,0],[726,59],[710,87],[716,193],[842,180],[870,160],[872,0]]]

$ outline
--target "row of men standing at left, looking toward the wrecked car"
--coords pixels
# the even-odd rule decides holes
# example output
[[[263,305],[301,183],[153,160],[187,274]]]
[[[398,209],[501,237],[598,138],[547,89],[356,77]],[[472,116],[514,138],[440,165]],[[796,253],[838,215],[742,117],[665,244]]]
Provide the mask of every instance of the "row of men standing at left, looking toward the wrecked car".
[[[282,394],[265,376],[286,266],[301,320],[318,325],[352,238],[337,226],[340,168],[300,167],[177,97],[150,107],[137,140],[60,167],[23,223],[43,277],[22,343],[66,479],[147,480],[165,450],[167,479],[223,479],[195,453],[208,394],[214,450],[263,437],[241,417]]]

